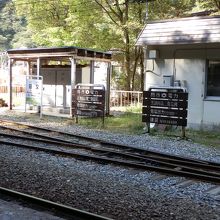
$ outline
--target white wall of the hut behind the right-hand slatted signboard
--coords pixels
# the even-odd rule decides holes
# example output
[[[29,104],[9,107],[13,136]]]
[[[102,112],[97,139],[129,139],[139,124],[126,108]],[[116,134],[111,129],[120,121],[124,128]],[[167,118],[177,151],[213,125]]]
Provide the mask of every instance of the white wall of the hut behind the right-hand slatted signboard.
[[[188,127],[220,125],[220,99],[207,101],[205,98],[205,59],[160,59],[148,60],[145,89],[163,86],[163,75],[173,75],[176,80],[185,80],[189,93]],[[153,71],[154,73],[150,72]],[[220,97],[219,97],[220,98]]]

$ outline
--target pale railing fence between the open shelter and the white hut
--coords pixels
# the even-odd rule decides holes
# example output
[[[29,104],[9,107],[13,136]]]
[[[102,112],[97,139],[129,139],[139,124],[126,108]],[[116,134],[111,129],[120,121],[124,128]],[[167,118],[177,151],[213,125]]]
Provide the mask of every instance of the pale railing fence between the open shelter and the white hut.
[[[142,92],[123,90],[111,90],[110,92],[111,107],[141,106],[142,100]]]

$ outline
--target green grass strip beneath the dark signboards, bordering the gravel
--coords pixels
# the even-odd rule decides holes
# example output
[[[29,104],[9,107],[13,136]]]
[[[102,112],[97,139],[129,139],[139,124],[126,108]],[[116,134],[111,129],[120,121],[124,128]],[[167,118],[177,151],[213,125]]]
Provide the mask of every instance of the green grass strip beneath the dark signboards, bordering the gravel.
[[[141,113],[137,112],[140,112],[140,109],[132,109],[113,117],[106,117],[104,127],[102,126],[101,118],[80,118],[79,125],[87,128],[104,129],[113,133],[143,134],[145,123],[142,123]],[[182,133],[181,127],[167,126],[164,129],[152,128],[150,135],[161,138],[181,138]],[[220,131],[197,131],[186,129],[186,140],[220,149]]]

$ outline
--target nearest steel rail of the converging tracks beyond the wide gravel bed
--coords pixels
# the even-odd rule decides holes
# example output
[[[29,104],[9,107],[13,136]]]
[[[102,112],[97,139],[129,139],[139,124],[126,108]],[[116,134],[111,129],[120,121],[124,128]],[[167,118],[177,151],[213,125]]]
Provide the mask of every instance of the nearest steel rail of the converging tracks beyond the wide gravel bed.
[[[0,141],[0,143],[5,144],[5,145],[10,145],[10,146],[17,146],[17,147],[22,147],[22,148],[33,149],[36,151],[43,151],[46,153],[64,155],[64,156],[68,156],[68,157],[71,156],[71,157],[76,157],[76,158],[81,158],[81,159],[86,159],[86,160],[94,160],[97,162],[114,163],[114,164],[118,164],[118,165],[135,167],[135,168],[148,170],[148,171],[161,172],[161,173],[165,173],[168,175],[185,176],[185,177],[190,177],[190,178],[199,179],[199,180],[203,180],[203,181],[205,180],[205,181],[209,181],[209,182],[220,183],[220,177],[216,174],[207,173],[207,172],[203,172],[203,171],[201,171],[200,173],[198,173],[198,171],[193,172],[193,169],[188,169],[185,167],[183,167],[185,170],[179,170],[179,167],[175,167],[175,168],[171,169],[171,168],[167,168],[167,167],[164,168],[164,167],[157,167],[157,166],[153,166],[153,165],[146,165],[143,163],[134,163],[133,161],[125,161],[125,160],[114,159],[114,158],[110,159],[107,157],[100,157],[100,156],[95,156],[95,155],[86,155],[86,154],[81,154],[81,153],[59,151],[59,150],[54,150],[54,149],[48,149],[48,148],[43,148],[43,147],[34,147],[34,146],[30,146],[30,145],[18,144],[18,143],[12,143],[12,142]]]

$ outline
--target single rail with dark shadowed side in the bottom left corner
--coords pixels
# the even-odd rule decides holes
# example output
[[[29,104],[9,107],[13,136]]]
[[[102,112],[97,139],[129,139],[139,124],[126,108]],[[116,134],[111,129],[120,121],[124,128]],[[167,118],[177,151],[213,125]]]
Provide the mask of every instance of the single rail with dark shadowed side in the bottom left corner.
[[[111,220],[104,216],[96,215],[90,212],[86,212],[80,209],[76,209],[70,206],[62,205],[59,203],[51,202],[49,200],[41,199],[35,196],[10,190],[7,188],[0,187],[0,195],[9,196],[12,201],[22,201],[28,206],[40,208],[41,211],[52,211],[56,216],[64,219],[75,219],[75,220]]]

